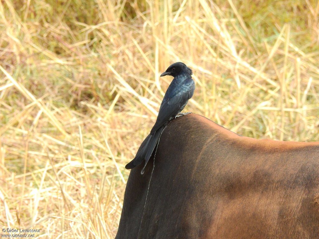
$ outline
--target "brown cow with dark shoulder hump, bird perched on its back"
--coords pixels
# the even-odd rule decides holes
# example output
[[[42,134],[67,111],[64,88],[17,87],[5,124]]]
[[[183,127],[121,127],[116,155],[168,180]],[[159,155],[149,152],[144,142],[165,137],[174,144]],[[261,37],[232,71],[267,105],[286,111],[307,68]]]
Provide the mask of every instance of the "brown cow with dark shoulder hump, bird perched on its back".
[[[116,239],[319,238],[319,142],[256,140],[189,114],[142,167]]]

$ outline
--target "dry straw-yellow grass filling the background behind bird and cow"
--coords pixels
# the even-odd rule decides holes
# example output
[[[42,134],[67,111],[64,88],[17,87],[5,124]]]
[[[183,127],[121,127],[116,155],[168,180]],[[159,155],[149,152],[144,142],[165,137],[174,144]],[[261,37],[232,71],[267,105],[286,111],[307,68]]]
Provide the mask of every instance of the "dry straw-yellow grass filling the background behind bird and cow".
[[[254,138],[319,141],[318,1],[83,3],[0,2],[2,227],[114,238],[124,165],[176,61],[194,71],[185,110]]]

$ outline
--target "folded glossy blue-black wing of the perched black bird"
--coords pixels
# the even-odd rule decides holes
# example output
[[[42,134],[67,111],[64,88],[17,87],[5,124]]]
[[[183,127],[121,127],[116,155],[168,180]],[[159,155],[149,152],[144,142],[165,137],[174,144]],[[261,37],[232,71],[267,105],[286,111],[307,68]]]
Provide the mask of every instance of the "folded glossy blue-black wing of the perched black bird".
[[[171,94],[171,98],[167,97],[167,99],[163,99],[162,104],[159,107],[159,114],[156,122],[151,130],[151,134],[167,122],[170,117],[179,113],[180,107],[193,96],[195,83],[192,78],[187,78],[175,89]]]

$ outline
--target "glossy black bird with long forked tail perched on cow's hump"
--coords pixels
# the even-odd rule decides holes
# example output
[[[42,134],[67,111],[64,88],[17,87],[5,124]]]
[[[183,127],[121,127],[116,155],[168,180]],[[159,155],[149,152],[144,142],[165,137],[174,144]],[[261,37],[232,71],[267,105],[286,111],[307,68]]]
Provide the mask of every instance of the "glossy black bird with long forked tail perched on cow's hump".
[[[193,96],[195,90],[195,83],[191,75],[192,70],[182,62],[176,62],[170,65],[167,70],[160,76],[173,76],[174,79],[170,83],[159,107],[159,114],[157,116],[155,125],[150,134],[141,144],[137,151],[135,158],[128,164],[126,169],[132,169],[141,164],[145,160],[145,166],[150,159],[154,148],[159,141],[159,137],[166,127],[168,121],[174,119],[178,114],[183,115],[187,113],[180,113],[188,100]],[[144,168],[141,174],[144,173]]]

